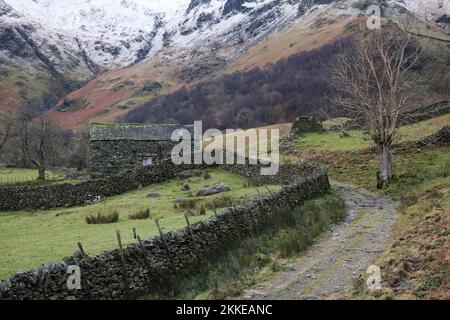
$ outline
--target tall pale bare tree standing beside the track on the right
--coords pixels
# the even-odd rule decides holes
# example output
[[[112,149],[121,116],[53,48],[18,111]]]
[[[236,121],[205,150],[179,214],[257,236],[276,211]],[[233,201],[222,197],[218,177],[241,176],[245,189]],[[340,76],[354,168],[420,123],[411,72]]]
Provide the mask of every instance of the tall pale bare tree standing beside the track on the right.
[[[379,188],[393,176],[391,149],[399,116],[417,94],[417,82],[409,71],[423,49],[414,44],[409,32],[411,23],[361,31],[354,47],[339,54],[331,72],[332,82],[340,93],[336,102],[364,119],[379,149]]]

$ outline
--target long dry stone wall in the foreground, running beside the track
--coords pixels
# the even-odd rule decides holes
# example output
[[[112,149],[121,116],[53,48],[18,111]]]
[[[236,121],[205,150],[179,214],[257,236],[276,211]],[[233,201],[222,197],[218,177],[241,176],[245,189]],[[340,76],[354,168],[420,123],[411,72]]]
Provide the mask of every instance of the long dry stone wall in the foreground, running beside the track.
[[[255,168],[228,167],[244,175]],[[62,263],[17,273],[0,282],[0,299],[127,299],[173,288],[180,279],[196,274],[202,262],[213,262],[234,244],[270,225],[280,209],[301,205],[330,187],[326,170],[307,163],[282,167],[277,177],[279,183],[289,185],[190,228],[129,245],[123,254],[121,250],[98,256],[78,254]],[[137,183],[149,181],[144,180]],[[69,266],[79,267],[81,289],[68,288]]]

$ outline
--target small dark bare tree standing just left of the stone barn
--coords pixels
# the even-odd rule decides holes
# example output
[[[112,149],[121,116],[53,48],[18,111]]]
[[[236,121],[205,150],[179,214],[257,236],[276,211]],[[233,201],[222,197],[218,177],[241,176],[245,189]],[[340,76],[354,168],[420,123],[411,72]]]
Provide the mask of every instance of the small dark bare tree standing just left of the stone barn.
[[[45,180],[48,163],[61,145],[59,128],[46,119],[30,121],[26,117],[20,117],[17,120],[16,130],[24,157],[38,169],[38,179]]]

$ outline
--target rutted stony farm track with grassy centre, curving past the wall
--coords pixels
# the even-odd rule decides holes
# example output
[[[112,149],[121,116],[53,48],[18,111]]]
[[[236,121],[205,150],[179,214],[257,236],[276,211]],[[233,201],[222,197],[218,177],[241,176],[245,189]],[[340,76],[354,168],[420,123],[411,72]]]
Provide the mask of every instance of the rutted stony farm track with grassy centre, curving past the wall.
[[[387,247],[397,212],[393,203],[356,187],[334,184],[348,214],[304,255],[271,280],[245,293],[247,299],[339,299]]]

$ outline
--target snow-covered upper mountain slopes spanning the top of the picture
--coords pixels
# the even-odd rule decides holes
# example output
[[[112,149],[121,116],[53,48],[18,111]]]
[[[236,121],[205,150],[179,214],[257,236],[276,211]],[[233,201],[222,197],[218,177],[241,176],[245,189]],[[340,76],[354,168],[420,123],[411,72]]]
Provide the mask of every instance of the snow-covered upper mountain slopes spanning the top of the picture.
[[[128,66],[163,48],[245,42],[336,0],[4,0],[18,14],[51,30],[69,48],[107,69]],[[375,1],[377,2],[377,1]],[[379,1],[433,17],[449,0]],[[356,10],[353,10],[356,11]]]

